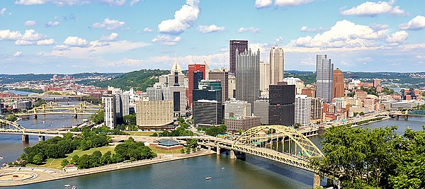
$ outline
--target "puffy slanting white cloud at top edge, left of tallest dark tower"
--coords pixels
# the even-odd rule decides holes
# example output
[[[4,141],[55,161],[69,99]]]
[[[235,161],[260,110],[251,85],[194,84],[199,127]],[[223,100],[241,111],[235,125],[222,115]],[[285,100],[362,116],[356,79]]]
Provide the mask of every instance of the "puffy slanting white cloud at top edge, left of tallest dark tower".
[[[186,4],[181,6],[179,11],[174,13],[174,19],[162,21],[158,25],[160,33],[178,35],[190,28],[198,20],[200,9],[199,0],[186,0]]]

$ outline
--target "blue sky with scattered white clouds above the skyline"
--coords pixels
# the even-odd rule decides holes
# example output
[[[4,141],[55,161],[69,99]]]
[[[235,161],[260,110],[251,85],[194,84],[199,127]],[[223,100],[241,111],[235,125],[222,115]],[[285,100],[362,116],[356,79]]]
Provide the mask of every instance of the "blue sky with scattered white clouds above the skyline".
[[[0,74],[229,67],[229,40],[314,71],[425,71],[425,1],[1,0]]]

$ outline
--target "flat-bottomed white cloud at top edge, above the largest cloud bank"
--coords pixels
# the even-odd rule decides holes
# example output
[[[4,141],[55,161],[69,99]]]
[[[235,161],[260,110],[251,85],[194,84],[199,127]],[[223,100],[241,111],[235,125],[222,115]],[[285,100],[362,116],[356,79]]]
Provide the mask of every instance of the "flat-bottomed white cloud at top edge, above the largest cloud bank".
[[[348,10],[341,11],[341,15],[344,16],[378,16],[384,13],[390,13],[393,15],[405,15],[406,11],[399,8],[399,6],[393,6],[394,1],[378,1],[370,2],[366,1],[356,7]]]

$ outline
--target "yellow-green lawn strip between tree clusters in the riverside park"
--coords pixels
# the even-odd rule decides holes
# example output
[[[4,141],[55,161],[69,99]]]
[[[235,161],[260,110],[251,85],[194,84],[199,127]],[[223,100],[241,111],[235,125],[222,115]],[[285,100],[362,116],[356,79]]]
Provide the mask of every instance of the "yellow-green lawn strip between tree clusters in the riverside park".
[[[35,167],[45,167],[45,168],[56,168],[56,169],[62,169],[62,166],[60,165],[60,163],[62,163],[62,160],[64,159],[68,159],[68,161],[71,161],[72,157],[75,155],[78,156],[82,156],[84,154],[92,154],[94,151],[101,151],[102,154],[105,154],[107,151],[111,151],[112,153],[114,153],[113,149],[115,147],[98,147],[98,148],[93,148],[93,149],[89,149],[86,151],[82,151],[81,149],[77,149],[74,150],[71,154],[67,154],[66,158],[62,158],[62,159],[47,159],[45,164],[42,165],[35,165],[35,164],[28,164],[28,166],[35,166]]]

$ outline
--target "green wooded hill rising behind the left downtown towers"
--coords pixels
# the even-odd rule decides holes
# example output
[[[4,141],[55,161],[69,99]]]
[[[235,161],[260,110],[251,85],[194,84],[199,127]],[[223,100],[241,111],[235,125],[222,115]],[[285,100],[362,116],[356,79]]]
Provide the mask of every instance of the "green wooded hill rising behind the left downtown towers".
[[[99,86],[101,88],[106,88],[108,86],[113,86],[115,88],[121,88],[123,90],[128,90],[129,88],[134,88],[135,90],[146,91],[146,88],[153,86],[155,82],[158,82],[158,79],[155,76],[161,76],[163,74],[169,74],[169,70],[162,69],[142,69],[139,71],[131,71],[126,74],[117,76],[111,80],[107,81],[94,81],[90,84],[94,86]]]

